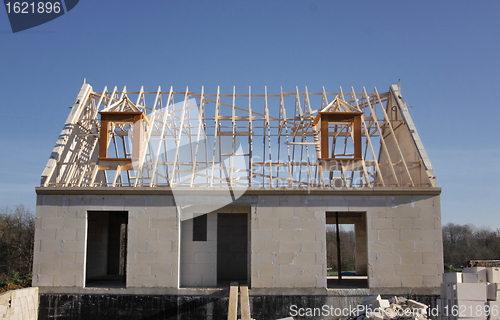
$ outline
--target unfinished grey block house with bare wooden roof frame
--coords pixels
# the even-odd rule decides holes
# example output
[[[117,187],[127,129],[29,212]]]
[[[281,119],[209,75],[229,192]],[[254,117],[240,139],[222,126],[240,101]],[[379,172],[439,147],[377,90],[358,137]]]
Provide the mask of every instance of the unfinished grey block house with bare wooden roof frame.
[[[36,188],[41,313],[232,281],[254,310],[439,294],[441,189],[399,87],[254,90],[82,86]],[[353,228],[355,276],[327,276],[329,225]]]

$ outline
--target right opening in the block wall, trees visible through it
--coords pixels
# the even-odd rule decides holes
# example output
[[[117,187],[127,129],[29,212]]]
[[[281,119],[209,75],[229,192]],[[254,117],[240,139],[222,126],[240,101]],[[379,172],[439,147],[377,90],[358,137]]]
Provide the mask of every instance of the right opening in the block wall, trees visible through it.
[[[328,288],[368,287],[366,213],[326,213]]]

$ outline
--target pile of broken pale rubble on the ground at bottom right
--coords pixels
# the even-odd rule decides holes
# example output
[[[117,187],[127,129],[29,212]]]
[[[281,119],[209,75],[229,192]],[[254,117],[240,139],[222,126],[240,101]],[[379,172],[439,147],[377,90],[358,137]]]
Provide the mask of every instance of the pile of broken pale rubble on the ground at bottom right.
[[[427,319],[426,304],[404,297],[382,299],[380,295],[366,297],[349,320]]]

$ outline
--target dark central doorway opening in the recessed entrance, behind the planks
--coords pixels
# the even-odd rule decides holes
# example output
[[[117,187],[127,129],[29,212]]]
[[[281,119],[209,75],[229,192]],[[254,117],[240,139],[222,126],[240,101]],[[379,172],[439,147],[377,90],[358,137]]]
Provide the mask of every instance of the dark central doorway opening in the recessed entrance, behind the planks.
[[[248,285],[248,219],[246,213],[217,214],[217,286]]]

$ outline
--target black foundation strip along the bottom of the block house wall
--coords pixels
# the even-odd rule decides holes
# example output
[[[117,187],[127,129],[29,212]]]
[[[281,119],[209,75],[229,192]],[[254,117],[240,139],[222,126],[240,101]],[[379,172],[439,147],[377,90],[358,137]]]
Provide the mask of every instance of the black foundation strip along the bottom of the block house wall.
[[[347,318],[332,312],[354,309],[364,296],[251,296],[252,318],[256,320]],[[389,298],[386,296],[384,298]],[[436,307],[436,295],[407,296]],[[227,319],[227,296],[186,295],[56,295],[40,296],[39,320],[197,320]],[[316,316],[313,314],[316,308]],[[338,311],[338,310],[337,310]],[[319,313],[321,312],[321,313]],[[327,314],[328,313],[328,314]],[[302,314],[303,316],[300,316]],[[330,317],[329,317],[330,318]]]

